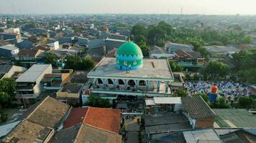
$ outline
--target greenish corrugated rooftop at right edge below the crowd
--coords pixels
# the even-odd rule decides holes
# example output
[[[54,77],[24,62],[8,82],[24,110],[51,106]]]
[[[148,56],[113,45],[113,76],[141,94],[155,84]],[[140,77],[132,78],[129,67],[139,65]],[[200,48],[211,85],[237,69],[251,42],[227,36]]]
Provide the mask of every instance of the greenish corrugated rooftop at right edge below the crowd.
[[[216,113],[215,128],[219,127],[256,127],[255,115],[246,109],[213,109]]]

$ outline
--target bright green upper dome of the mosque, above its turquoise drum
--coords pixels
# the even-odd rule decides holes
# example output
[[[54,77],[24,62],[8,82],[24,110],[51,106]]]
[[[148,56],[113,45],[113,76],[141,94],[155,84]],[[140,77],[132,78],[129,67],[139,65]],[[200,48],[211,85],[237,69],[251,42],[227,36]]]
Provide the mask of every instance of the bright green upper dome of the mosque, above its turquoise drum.
[[[140,46],[137,44],[134,44],[132,41],[127,41],[124,44],[122,44],[119,49],[117,50],[117,55],[120,56],[143,56],[142,50],[140,49]]]

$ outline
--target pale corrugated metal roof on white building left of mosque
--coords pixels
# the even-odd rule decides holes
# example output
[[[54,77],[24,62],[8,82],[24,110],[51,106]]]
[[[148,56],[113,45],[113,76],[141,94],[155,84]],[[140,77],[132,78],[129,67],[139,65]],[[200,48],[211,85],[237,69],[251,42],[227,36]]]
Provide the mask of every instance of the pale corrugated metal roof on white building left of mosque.
[[[34,64],[16,82],[35,82],[50,64]]]

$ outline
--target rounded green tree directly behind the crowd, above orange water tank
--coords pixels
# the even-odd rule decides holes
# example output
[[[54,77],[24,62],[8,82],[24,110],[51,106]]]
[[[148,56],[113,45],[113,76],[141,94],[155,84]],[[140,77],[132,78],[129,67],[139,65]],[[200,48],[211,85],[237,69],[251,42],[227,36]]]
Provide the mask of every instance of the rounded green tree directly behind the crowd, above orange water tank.
[[[211,77],[224,77],[229,74],[229,66],[220,61],[209,61],[201,70],[204,77],[210,75]]]

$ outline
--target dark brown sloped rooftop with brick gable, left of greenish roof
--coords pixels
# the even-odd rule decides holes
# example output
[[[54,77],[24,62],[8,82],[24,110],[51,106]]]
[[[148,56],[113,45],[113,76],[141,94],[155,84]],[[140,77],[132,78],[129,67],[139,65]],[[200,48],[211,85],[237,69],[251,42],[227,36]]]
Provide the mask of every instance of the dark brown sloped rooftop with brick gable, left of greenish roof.
[[[183,97],[181,98],[183,108],[193,119],[204,119],[215,117],[215,113],[208,106],[202,97]]]

